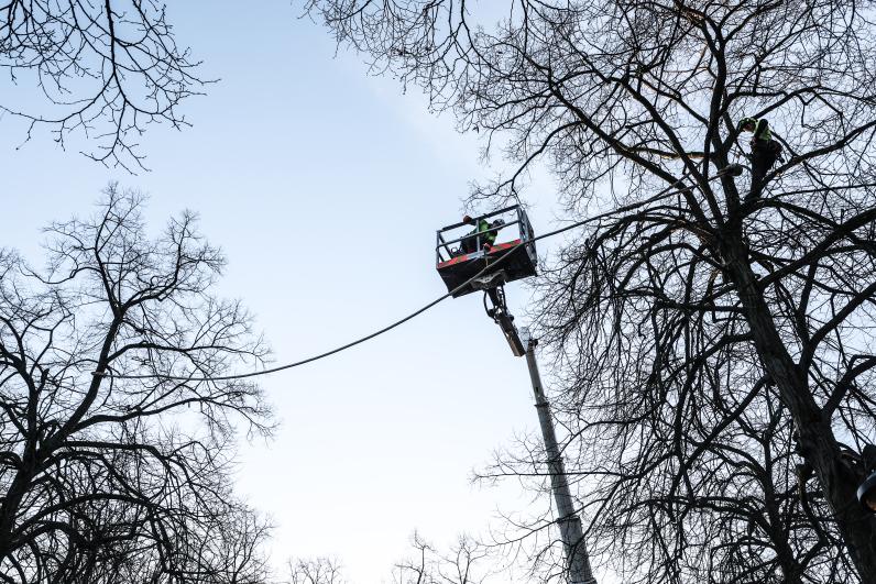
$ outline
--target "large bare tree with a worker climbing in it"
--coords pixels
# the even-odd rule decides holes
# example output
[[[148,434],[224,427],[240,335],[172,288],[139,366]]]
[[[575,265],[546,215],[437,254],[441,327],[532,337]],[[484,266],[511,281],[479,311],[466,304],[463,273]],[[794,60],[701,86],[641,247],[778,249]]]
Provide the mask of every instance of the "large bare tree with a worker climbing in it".
[[[503,147],[475,197],[543,162],[589,218],[537,316],[596,549],[644,582],[876,582],[873,2],[506,5],[308,9]],[[787,155],[764,188],[743,117]]]

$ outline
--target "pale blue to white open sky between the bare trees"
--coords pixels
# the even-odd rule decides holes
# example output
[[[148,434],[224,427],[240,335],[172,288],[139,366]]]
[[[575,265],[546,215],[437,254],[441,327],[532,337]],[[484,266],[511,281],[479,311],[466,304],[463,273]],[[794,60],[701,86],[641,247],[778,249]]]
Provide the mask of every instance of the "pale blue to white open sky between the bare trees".
[[[470,183],[495,168],[479,162],[477,136],[429,113],[416,91],[370,77],[299,7],[242,5],[168,7],[177,41],[221,80],[184,106],[193,128],[150,128],[149,172],[106,168],[44,132],[22,144],[21,125],[0,120],[0,246],[39,263],[40,229],[90,212],[111,180],[149,194],[155,230],[195,210],[229,260],[219,294],[243,299],[281,364],[444,294],[435,230],[459,220]],[[537,232],[556,227],[551,188],[537,176],[524,195]],[[523,315],[527,288],[507,294]],[[525,361],[478,295],[262,383],[281,426],[267,442],[242,443],[236,478],[276,526],[278,566],[332,557],[350,582],[376,583],[415,529],[447,547],[485,533],[500,511],[547,504],[516,482],[471,482],[495,450],[537,428]]]

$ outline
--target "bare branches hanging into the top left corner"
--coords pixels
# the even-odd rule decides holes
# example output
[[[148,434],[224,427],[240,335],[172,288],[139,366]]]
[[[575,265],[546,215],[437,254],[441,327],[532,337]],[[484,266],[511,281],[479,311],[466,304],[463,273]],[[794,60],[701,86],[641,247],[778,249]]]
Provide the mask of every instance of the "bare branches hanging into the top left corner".
[[[146,125],[188,125],[179,106],[205,84],[197,65],[155,0],[0,1],[0,70],[43,96],[0,102],[30,122],[28,140],[44,125],[62,146],[72,134],[95,139],[86,155],[96,161],[142,166]]]

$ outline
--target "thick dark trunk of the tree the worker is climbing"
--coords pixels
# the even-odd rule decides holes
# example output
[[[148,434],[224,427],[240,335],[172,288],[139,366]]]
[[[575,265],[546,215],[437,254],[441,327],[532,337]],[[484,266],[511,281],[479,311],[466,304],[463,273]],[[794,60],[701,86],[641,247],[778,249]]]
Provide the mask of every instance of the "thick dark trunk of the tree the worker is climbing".
[[[841,459],[829,419],[809,388],[807,372],[793,362],[776,329],[741,241],[726,245],[727,271],[742,300],[754,345],[764,368],[790,410],[800,453],[812,466],[836,518],[840,533],[863,582],[876,583],[876,518],[857,500],[859,477]]]

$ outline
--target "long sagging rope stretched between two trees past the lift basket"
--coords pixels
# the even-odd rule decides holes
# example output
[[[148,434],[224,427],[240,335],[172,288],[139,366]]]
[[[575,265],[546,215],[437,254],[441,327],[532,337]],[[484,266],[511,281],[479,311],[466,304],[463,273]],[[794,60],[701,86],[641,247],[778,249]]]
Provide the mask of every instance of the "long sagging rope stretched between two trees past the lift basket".
[[[738,165],[730,165],[726,168],[723,168],[715,176],[710,178],[709,181],[711,183],[715,178],[719,178],[719,177],[723,176],[725,173],[726,174],[732,174],[735,170],[734,167],[736,167],[736,166],[738,166]],[[731,168],[733,168],[733,170],[731,170]],[[285,370],[291,370],[293,367],[299,367],[302,365],[306,365],[308,363],[313,363],[314,361],[319,361],[320,359],[326,359],[326,357],[331,356],[331,355],[333,355],[336,353],[340,353],[341,351],[346,351],[346,350],[351,349],[351,348],[353,348],[353,346],[355,346],[358,344],[362,344],[362,343],[364,343],[366,341],[370,341],[371,339],[374,339],[375,337],[380,337],[383,333],[390,332],[391,330],[395,329],[396,327],[401,327],[402,324],[404,324],[408,320],[412,320],[415,317],[418,317],[419,315],[421,315],[423,312],[429,310],[430,308],[432,308],[434,306],[438,305],[439,302],[442,302],[444,300],[446,300],[449,297],[453,296],[456,293],[458,293],[459,290],[461,290],[462,288],[464,288],[466,286],[471,284],[473,280],[475,280],[477,278],[481,277],[488,269],[490,269],[490,271],[494,269],[497,265],[501,265],[505,260],[511,257],[511,255],[514,252],[516,252],[517,249],[519,249],[519,247],[522,247],[524,245],[528,245],[529,243],[535,243],[536,241],[539,241],[539,240],[544,240],[544,239],[547,239],[547,238],[552,238],[555,235],[559,235],[560,233],[565,233],[566,231],[570,231],[572,229],[576,229],[576,228],[579,228],[579,227],[583,227],[583,225],[585,225],[588,223],[591,223],[593,221],[598,221],[600,219],[604,219],[605,217],[609,217],[609,216],[612,216],[612,214],[616,214],[618,212],[624,212],[626,210],[631,210],[631,209],[634,209],[636,207],[640,207],[643,205],[647,205],[649,202],[654,202],[655,200],[657,200],[659,198],[663,198],[663,197],[666,197],[666,196],[683,192],[687,189],[681,189],[681,190],[678,190],[676,192],[667,192],[670,189],[672,189],[674,187],[676,187],[676,185],[678,185],[682,180],[685,180],[685,179],[680,178],[679,180],[676,180],[675,183],[672,183],[671,185],[666,187],[663,191],[658,192],[657,195],[655,195],[654,197],[651,197],[650,199],[647,199],[645,201],[636,202],[636,203],[633,203],[633,205],[628,205],[628,206],[622,207],[620,209],[615,209],[613,211],[607,211],[605,213],[598,214],[595,217],[590,217],[588,219],[583,219],[581,221],[577,221],[574,223],[570,223],[570,224],[568,224],[566,227],[562,227],[562,228],[559,228],[559,229],[555,229],[554,231],[548,231],[547,233],[543,233],[541,235],[533,238],[532,240],[528,240],[526,242],[521,242],[521,243],[514,245],[513,247],[511,247],[499,260],[496,260],[492,264],[489,264],[489,265],[484,266],[483,269],[478,272],[475,275],[473,275],[472,277],[470,277],[469,279],[467,279],[466,282],[463,282],[462,284],[460,284],[459,286],[457,286],[456,288],[453,288],[449,293],[436,298],[431,302],[423,306],[421,308],[415,310],[414,312],[410,312],[409,315],[407,315],[407,316],[396,320],[395,322],[392,322],[391,324],[387,324],[386,327],[383,327],[382,329],[379,329],[379,330],[376,330],[376,331],[374,331],[374,332],[372,332],[370,334],[361,337],[361,338],[359,338],[359,339],[357,339],[354,341],[350,341],[347,344],[342,344],[342,345],[337,346],[337,348],[335,348],[335,349],[332,349],[330,351],[326,351],[324,353],[319,353],[317,355],[314,355],[314,356],[310,356],[310,357],[307,357],[307,359],[303,359],[303,360],[296,361],[294,363],[287,363],[285,365],[277,365],[276,367],[270,367],[270,368],[266,368],[266,370],[255,371],[255,372],[251,372],[251,373],[239,373],[239,374],[234,374],[234,375],[217,375],[217,376],[207,376],[207,377],[190,377],[190,376],[183,376],[183,375],[163,375],[161,373],[149,373],[149,374],[141,374],[141,375],[114,375],[112,373],[97,372],[97,371],[92,372],[91,375],[99,376],[99,377],[111,377],[113,379],[153,379],[153,378],[158,378],[158,379],[172,381],[172,382],[226,382],[226,381],[232,381],[232,379],[244,379],[244,378],[248,378],[248,377],[258,377],[260,375],[270,375],[272,373],[277,373],[277,372],[281,372],[281,371],[285,371]]]

